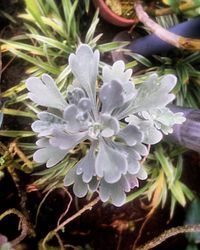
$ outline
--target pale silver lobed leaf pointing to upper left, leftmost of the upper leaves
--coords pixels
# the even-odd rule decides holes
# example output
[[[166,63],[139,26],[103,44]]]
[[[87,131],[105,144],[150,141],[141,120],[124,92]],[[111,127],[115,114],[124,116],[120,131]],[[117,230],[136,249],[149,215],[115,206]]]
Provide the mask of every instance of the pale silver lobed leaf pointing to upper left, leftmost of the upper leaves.
[[[30,77],[26,81],[26,86],[30,91],[28,97],[41,106],[57,109],[64,109],[67,106],[54,80],[47,74],[42,75],[42,80]]]

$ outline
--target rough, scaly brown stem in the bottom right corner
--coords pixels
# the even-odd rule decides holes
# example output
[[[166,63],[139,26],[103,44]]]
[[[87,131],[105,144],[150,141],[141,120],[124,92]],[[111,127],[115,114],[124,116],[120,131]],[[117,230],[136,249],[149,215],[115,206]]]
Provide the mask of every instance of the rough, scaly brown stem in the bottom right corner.
[[[177,234],[192,233],[192,232],[200,232],[200,224],[173,227],[171,229],[164,231],[159,236],[150,240],[143,246],[136,248],[135,250],[149,250],[160,245],[162,242],[166,241],[168,238],[172,236],[175,236]]]

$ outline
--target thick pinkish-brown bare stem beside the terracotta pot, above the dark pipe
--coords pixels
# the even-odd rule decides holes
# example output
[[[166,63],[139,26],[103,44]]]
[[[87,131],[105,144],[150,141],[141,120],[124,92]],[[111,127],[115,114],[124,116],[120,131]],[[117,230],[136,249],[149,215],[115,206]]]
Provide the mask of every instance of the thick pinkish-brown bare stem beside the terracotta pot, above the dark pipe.
[[[158,36],[161,40],[177,48],[187,49],[192,51],[200,50],[200,39],[192,39],[179,36],[164,29],[148,16],[148,14],[144,11],[139,1],[135,2],[134,8],[139,21],[142,22],[145,27],[147,27],[152,33]]]

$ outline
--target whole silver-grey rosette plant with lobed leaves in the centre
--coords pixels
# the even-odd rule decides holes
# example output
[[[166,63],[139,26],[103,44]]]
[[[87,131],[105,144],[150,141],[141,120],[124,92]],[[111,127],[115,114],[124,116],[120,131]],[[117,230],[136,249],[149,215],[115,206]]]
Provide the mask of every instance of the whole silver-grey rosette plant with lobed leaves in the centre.
[[[163,133],[171,133],[174,124],[185,120],[182,113],[166,107],[175,97],[169,92],[176,77],[152,74],[136,88],[132,70],[125,70],[122,61],[104,66],[98,76],[99,51],[93,53],[86,44],[69,56],[69,66],[74,81],[66,100],[49,75],[27,80],[28,97],[48,108],[32,124],[40,138],[33,159],[50,168],[76,145],[89,141],[87,154],[68,171],[64,185],[73,184],[77,197],[97,191],[103,202],[121,206],[125,193],[139,186],[138,179],[147,178],[140,164],[141,156],[148,154],[147,145],[159,142]]]

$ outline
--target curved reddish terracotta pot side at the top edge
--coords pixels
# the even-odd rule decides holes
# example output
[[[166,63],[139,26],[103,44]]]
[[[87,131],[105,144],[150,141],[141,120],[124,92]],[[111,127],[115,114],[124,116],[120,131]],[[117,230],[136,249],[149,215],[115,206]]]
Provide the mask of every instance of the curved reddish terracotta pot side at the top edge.
[[[127,27],[137,22],[137,19],[128,19],[115,14],[105,3],[105,0],[93,0],[96,8],[99,8],[100,15],[109,23],[116,26]]]

